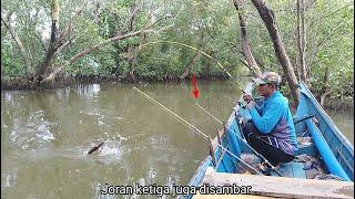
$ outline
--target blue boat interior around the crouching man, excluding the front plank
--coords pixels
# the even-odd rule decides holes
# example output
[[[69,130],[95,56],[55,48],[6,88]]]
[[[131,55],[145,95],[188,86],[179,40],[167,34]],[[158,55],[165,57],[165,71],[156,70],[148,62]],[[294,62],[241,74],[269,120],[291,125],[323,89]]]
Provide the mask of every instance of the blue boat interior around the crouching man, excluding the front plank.
[[[216,171],[250,172],[251,170],[245,169],[245,164],[241,164],[241,160],[255,169],[261,164],[261,158],[247,146],[241,133],[242,123],[251,117],[247,111],[240,105],[234,111],[227,127],[217,134],[215,143],[212,144],[213,148],[210,150],[215,151],[212,155],[212,161],[215,161]],[[296,157],[291,163],[280,164],[276,167],[276,172],[271,170],[267,175],[303,179],[354,180],[354,148],[352,144],[341,134],[304,85],[301,87],[301,101],[293,119],[298,143]],[[234,159],[233,161],[229,153],[223,151],[222,148],[219,149],[217,143],[235,153],[241,160]]]

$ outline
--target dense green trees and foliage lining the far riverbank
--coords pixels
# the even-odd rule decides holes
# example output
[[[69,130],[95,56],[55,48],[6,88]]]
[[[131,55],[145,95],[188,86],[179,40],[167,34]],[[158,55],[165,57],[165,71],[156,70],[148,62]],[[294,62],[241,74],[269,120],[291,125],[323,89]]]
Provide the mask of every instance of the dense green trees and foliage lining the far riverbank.
[[[54,2],[59,3],[57,18],[52,15]],[[250,1],[241,3],[258,65],[263,71],[282,73],[257,11]],[[296,69],[296,0],[267,4],[276,14],[282,40]],[[318,95],[353,97],[353,12],[351,0],[305,1],[307,81]],[[53,19],[58,32],[51,35]],[[47,62],[51,50],[53,54]],[[216,61],[232,75],[248,73],[241,53],[237,11],[231,0],[1,2],[2,83],[19,78],[36,82],[39,73],[50,75],[57,69],[57,80],[99,76],[166,81],[189,77],[191,73],[206,78],[227,77]]]

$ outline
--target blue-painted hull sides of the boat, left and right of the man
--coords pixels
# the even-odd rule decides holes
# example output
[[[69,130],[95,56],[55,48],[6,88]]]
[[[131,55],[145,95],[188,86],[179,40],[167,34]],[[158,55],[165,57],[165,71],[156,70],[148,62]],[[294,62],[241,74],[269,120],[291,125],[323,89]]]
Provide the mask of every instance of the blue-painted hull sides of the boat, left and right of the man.
[[[339,177],[344,181],[353,181],[354,146],[336,127],[305,84],[301,83],[300,90],[300,104],[294,114],[296,134],[301,138],[308,134],[313,143],[301,146],[297,155],[318,157],[325,174]],[[234,107],[225,128],[219,132],[217,136],[211,142],[211,153],[196,169],[195,175],[189,182],[190,186],[201,186],[209,168],[213,168],[216,174],[253,172],[252,170],[245,170],[241,166],[243,155],[253,154],[250,146],[245,144],[241,130],[242,121],[245,122],[250,118],[251,116],[245,108],[242,108],[240,105]],[[227,148],[235,157],[225,153],[223,148]],[[314,180],[310,179],[311,176],[306,174],[302,164],[287,164],[282,169],[281,171],[285,175],[284,177],[287,177],[291,181],[297,181],[300,178]],[[352,187],[353,189],[354,186]],[[192,196],[187,198],[190,197]]]

